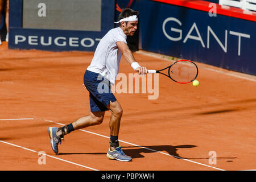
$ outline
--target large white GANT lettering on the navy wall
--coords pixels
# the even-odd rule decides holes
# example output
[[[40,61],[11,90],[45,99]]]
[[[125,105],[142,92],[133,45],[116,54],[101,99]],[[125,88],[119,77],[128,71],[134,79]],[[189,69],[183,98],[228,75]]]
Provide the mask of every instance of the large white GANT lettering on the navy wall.
[[[166,18],[164,21],[163,21],[163,26],[162,26],[162,29],[163,29],[163,34],[166,36],[167,39],[169,40],[172,40],[172,41],[180,41],[182,39],[182,30],[181,29],[178,29],[178,28],[173,28],[171,27],[171,31],[172,32],[177,32],[179,33],[179,37],[177,38],[174,38],[170,35],[170,32],[167,32],[166,31],[166,24],[167,22],[170,22],[170,21],[173,21],[173,22],[176,22],[177,24],[179,24],[179,26],[181,27],[182,23],[180,22],[179,19],[176,19],[174,17],[169,17],[169,18]],[[196,34],[197,36],[193,36],[191,35],[193,30],[195,29],[196,31]],[[169,33],[169,34],[168,34]],[[228,52],[228,30],[225,30],[225,46],[224,44],[222,44],[221,40],[217,37],[217,35],[214,33],[214,31],[212,30],[212,28],[210,26],[207,26],[207,48],[209,49],[210,47],[210,35],[213,36],[213,38],[217,41],[217,43],[220,45],[220,47],[223,49],[223,51],[225,53]],[[238,36],[238,53],[237,55],[240,56],[241,55],[241,37],[243,38],[247,38],[247,39],[250,39],[250,35],[249,34],[243,34],[241,32],[234,32],[234,31],[229,31],[229,35],[236,35]],[[185,36],[185,39],[183,40],[183,43],[186,43],[188,39],[192,39],[192,40],[197,40],[197,41],[200,41],[201,45],[203,48],[205,48],[205,44],[204,44],[204,41],[201,37],[201,34],[200,34],[200,31],[199,29],[197,28],[196,26],[196,23],[193,22],[190,30],[188,31],[188,34]]]

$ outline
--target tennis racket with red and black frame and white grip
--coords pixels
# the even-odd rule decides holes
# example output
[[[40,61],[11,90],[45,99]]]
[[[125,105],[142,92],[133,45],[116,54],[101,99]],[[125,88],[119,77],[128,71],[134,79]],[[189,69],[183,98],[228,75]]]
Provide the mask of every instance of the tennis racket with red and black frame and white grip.
[[[168,73],[163,73],[166,69]],[[198,68],[192,61],[179,60],[164,69],[148,70],[148,73],[160,73],[179,84],[188,84],[196,79],[198,75]]]

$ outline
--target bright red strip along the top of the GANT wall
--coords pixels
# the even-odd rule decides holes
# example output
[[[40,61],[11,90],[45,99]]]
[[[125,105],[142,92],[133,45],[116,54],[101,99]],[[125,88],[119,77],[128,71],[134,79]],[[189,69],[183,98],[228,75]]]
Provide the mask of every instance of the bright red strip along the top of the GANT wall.
[[[163,2],[170,5],[177,5],[183,7],[189,7],[195,10],[207,11],[212,9],[212,6],[209,6],[213,2],[208,1],[197,1],[197,0],[152,0],[157,2]],[[236,7],[230,6],[221,6],[215,3],[216,5],[216,14],[232,16],[234,18],[246,19],[253,22],[256,22],[256,12],[254,11],[245,11]]]

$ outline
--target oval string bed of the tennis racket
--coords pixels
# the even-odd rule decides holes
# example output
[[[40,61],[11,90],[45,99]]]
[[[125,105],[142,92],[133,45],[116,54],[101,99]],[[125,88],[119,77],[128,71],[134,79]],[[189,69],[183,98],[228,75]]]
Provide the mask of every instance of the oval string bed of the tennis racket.
[[[197,76],[197,68],[189,61],[180,61],[172,65],[169,73],[177,82],[191,82]]]

